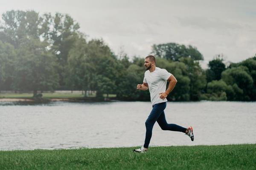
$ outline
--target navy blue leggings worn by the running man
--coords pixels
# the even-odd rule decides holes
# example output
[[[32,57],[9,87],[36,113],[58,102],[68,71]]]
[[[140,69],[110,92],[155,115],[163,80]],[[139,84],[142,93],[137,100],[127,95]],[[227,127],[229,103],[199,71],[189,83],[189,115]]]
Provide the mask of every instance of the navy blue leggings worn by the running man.
[[[157,121],[158,125],[161,127],[162,130],[171,130],[171,131],[178,131],[178,132],[186,132],[185,127],[181,127],[175,124],[168,124],[166,122],[164,109],[166,108],[166,102],[158,103],[153,106],[152,111],[150,112],[148,119],[145,122],[146,125],[146,137],[145,137],[145,148],[148,148],[151,136],[152,136],[152,129],[154,123]]]

